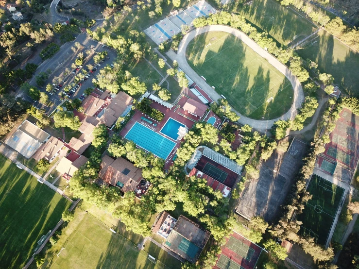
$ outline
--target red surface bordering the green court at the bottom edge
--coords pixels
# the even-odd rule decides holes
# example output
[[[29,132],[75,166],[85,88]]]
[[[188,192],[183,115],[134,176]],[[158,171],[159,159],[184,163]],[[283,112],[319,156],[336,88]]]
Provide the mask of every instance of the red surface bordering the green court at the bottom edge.
[[[222,253],[217,255],[218,259],[220,258],[221,255],[224,255],[224,256],[227,256],[229,259],[233,260],[234,262],[238,263],[240,266],[242,266],[245,269],[254,269],[256,262],[260,255],[261,248],[235,232],[233,232],[230,236],[235,237],[237,240],[242,241],[244,244],[246,244],[247,246],[249,246],[250,248],[255,250],[255,252],[252,256],[252,259],[250,261],[247,261],[244,257],[240,257],[238,253],[228,249],[226,247],[227,244],[222,246],[222,248],[221,248]],[[225,240],[227,243],[229,240],[229,237],[226,237]],[[217,259],[217,262],[218,262],[218,259]],[[216,263],[216,265],[213,267],[213,269],[222,269],[222,268],[217,267],[217,263]]]

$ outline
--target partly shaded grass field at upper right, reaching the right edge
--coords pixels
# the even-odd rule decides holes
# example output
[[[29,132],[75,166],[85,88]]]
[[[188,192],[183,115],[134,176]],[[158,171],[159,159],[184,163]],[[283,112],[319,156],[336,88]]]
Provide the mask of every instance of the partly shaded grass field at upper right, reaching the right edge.
[[[359,96],[359,53],[350,50],[325,30],[318,32],[297,52],[304,59],[315,61],[322,73],[333,75],[334,84],[348,94]]]

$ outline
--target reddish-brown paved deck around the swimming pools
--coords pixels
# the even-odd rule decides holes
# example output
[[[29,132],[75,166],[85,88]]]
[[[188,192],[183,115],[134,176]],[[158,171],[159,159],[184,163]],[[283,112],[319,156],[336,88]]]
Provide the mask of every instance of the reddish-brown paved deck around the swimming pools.
[[[169,118],[173,118],[173,119],[185,124],[188,127],[188,129],[191,129],[193,124],[195,124],[196,122],[192,118],[186,118],[186,117],[180,115],[179,114],[180,108],[178,108],[177,105],[174,106],[172,109],[169,109],[161,104],[153,102],[151,104],[151,106],[165,114],[165,118],[163,118],[163,120],[160,121],[159,123],[156,122],[157,123],[156,127],[153,126],[154,132],[156,132],[176,143],[174,149],[170,153],[170,157],[165,160],[165,169],[168,170],[171,167],[171,165],[173,164],[172,158],[175,153],[174,151],[176,151],[176,149],[179,148],[181,141],[179,141],[179,140],[174,141],[173,139],[166,136],[165,134],[160,133],[160,130],[166,124],[166,122]],[[145,117],[144,115],[145,115],[144,113],[135,109],[135,115],[129,120],[129,122],[126,124],[126,126],[121,130],[120,136],[124,137],[128,133],[128,131],[130,131],[130,129],[136,122],[141,122],[141,117]],[[147,116],[146,118],[149,118],[149,117]],[[197,117],[197,120],[198,120],[198,117]],[[171,157],[171,155],[172,155],[172,157]]]

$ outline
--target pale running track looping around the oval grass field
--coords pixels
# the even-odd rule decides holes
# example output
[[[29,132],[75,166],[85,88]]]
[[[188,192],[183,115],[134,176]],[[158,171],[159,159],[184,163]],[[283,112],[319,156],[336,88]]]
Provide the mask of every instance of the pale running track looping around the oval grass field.
[[[217,101],[218,99],[222,98],[211,86],[209,86],[205,80],[203,80],[189,65],[186,59],[186,48],[188,46],[188,43],[196,37],[198,34],[207,33],[210,31],[221,31],[226,32],[229,34],[233,34],[236,37],[238,37],[240,40],[243,41],[246,45],[252,48],[256,53],[258,53],[261,57],[266,59],[271,65],[273,65],[275,68],[277,68],[282,74],[284,74],[288,80],[291,82],[291,85],[294,89],[294,100],[291,106],[291,109],[285,113],[280,118],[275,118],[271,120],[256,120],[252,118],[247,118],[240,113],[236,111],[236,113],[240,116],[240,119],[238,120],[241,124],[249,124],[256,130],[265,132],[268,129],[271,129],[274,121],[278,119],[292,119],[295,117],[297,113],[297,109],[301,107],[302,102],[304,101],[304,93],[302,85],[300,84],[297,77],[295,77],[291,71],[282,63],[280,63],[272,54],[267,52],[266,50],[262,49],[258,44],[256,44],[255,41],[253,41],[251,38],[249,38],[246,34],[243,32],[234,29],[229,26],[225,25],[208,25],[205,27],[197,28],[186,34],[182,41],[180,42],[178,46],[178,51],[175,53],[173,50],[170,50],[167,52],[167,55],[171,58],[171,60],[176,60],[178,62],[179,67],[196,83],[198,84],[202,89],[205,90],[205,92],[211,96],[211,98],[214,101]]]

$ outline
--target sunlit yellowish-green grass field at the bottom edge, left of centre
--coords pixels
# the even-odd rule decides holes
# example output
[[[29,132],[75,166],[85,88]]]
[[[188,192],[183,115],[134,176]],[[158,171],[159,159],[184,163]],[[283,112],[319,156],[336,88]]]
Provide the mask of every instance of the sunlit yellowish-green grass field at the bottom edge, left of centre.
[[[56,246],[64,249],[58,257],[53,255],[51,269],[166,268],[158,261],[154,264],[148,259],[146,252],[138,250],[135,244],[122,236],[112,233],[107,226],[85,211],[77,209],[73,221],[63,231],[63,235],[67,235],[67,229],[70,229],[71,234]],[[166,259],[169,268],[181,268],[180,263],[176,263],[177,260],[172,256],[166,255]]]

